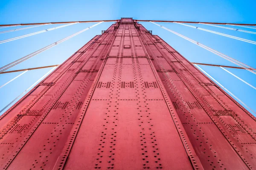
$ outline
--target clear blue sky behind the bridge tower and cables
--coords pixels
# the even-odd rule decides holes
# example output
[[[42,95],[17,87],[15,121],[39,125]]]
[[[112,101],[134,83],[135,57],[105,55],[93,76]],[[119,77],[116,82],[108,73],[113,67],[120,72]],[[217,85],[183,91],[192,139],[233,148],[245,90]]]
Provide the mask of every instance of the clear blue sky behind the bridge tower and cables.
[[[255,0],[1,0],[0,24],[77,20],[115,20],[120,19],[120,17],[133,17],[134,19],[141,20],[256,23],[255,6]],[[191,62],[233,65],[233,63],[157,27],[152,23],[141,23],[148,30],[152,30],[153,34],[162,37],[163,40],[168,42]],[[24,57],[27,54],[91,25],[93,25],[93,23],[76,24],[0,44],[0,66],[6,65],[20,57]],[[101,30],[107,29],[110,25],[111,23],[102,23],[66,42],[44,51],[12,69],[61,64],[82,45],[93,38],[94,35],[101,34]],[[180,26],[174,23],[161,23],[161,25],[256,68],[256,45],[196,30],[194,28]],[[0,40],[41,31],[55,26],[58,25],[41,26],[38,28],[0,34]],[[198,26],[256,41],[256,34],[247,34],[204,25]],[[241,29],[256,31],[247,28]],[[4,30],[7,30],[7,28],[0,29],[0,31]],[[209,66],[201,66],[201,68],[217,79],[233,94],[238,96],[239,99],[256,110],[256,90],[221,70],[221,68]],[[9,85],[0,88],[0,109],[49,70],[50,68],[28,71]],[[256,75],[244,70],[228,70],[256,86]],[[0,85],[18,74],[20,73],[0,74]]]

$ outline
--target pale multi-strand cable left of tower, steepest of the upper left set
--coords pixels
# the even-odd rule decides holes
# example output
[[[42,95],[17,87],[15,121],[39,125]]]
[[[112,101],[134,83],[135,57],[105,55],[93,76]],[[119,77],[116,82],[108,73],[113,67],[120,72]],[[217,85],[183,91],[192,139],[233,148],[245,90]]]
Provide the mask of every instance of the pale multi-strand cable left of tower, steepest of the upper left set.
[[[93,26],[90,26],[90,27],[88,27],[88,28],[85,28],[85,29],[83,29],[83,30],[81,30],[81,31],[79,31],[79,32],[77,32],[77,33],[75,33],[75,34],[72,34],[72,35],[70,35],[70,36],[68,36],[68,37],[65,37],[65,38],[63,38],[63,39],[61,39],[61,40],[58,40],[58,41],[56,41],[56,42],[54,42],[54,43],[52,43],[52,44],[50,44],[50,45],[47,45],[46,47],[41,48],[41,49],[39,49],[38,51],[35,51],[35,52],[33,52],[33,53],[29,54],[29,55],[26,55],[25,57],[22,57],[22,58],[20,58],[20,59],[17,59],[16,61],[11,62],[11,63],[9,63],[9,64],[7,64],[7,65],[1,67],[1,68],[0,68],[0,73],[2,73],[3,71],[6,71],[6,70],[9,69],[9,68],[12,68],[13,66],[15,66],[15,65],[17,65],[17,64],[19,64],[19,63],[21,63],[21,62],[23,62],[23,61],[25,61],[25,60],[31,58],[31,57],[34,57],[34,56],[37,55],[37,54],[40,54],[40,53],[43,52],[43,51],[46,51],[46,50],[49,49],[49,48],[52,48],[52,47],[55,46],[55,45],[60,44],[61,42],[64,42],[64,41],[66,41],[66,40],[68,40],[68,39],[70,39],[70,38],[72,38],[72,37],[75,37],[76,35],[81,34],[82,32],[87,31],[88,29],[93,28],[94,26],[97,26],[97,25],[99,25],[99,24],[101,24],[101,23],[103,23],[103,22],[104,22],[104,21],[102,21],[102,22],[100,22],[100,23],[96,23],[96,24],[94,24]]]

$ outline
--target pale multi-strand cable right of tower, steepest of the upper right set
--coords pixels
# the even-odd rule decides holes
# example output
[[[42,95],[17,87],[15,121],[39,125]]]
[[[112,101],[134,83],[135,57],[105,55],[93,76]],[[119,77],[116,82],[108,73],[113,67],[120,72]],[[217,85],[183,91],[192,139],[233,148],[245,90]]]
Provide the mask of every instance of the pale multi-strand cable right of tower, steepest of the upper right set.
[[[152,21],[150,21],[150,22],[153,23],[153,24],[155,24],[155,25],[157,25],[157,26],[160,26],[160,25],[157,24],[157,23],[154,23],[154,22],[152,22]],[[192,42],[192,43],[194,43],[194,44],[196,44],[196,45],[198,45],[198,46],[200,46],[200,47],[202,47],[202,48],[204,48],[204,49],[206,49],[206,50],[212,52],[213,54],[216,54],[216,55],[218,55],[218,56],[220,56],[220,57],[222,57],[222,58],[224,58],[224,59],[227,59],[227,60],[230,61],[230,62],[233,62],[233,63],[236,64],[236,65],[239,65],[240,67],[242,67],[242,68],[244,68],[244,69],[246,69],[246,70],[252,72],[253,74],[256,74],[256,69],[250,67],[249,65],[246,65],[246,64],[244,64],[244,63],[242,63],[242,62],[240,62],[240,61],[238,61],[238,60],[236,60],[236,59],[233,59],[232,57],[229,57],[229,56],[227,56],[227,55],[225,55],[225,54],[223,54],[223,53],[221,53],[221,52],[219,52],[219,51],[216,51],[216,50],[214,50],[214,49],[212,49],[212,48],[209,48],[209,47],[207,47],[206,45],[201,44],[200,42],[196,42],[195,40],[192,40],[192,39],[190,39],[190,38],[188,38],[188,37],[185,37],[185,36],[183,36],[182,34],[179,34],[179,33],[175,32],[175,31],[172,31],[172,30],[170,30],[170,29],[168,29],[168,28],[166,28],[166,27],[164,27],[164,26],[160,26],[160,27],[163,28],[163,29],[166,29],[167,31],[172,32],[173,34],[176,34],[176,35],[179,36],[179,37],[184,38],[185,40],[188,40],[188,41],[190,41],[190,42]]]

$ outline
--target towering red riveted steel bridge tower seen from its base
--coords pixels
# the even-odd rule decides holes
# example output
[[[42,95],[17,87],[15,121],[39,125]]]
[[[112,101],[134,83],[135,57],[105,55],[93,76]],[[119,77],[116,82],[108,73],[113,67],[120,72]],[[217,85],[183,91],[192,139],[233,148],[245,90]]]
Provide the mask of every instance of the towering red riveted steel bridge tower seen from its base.
[[[0,117],[1,169],[256,168],[255,117],[122,18]]]

